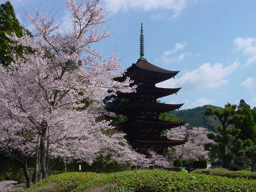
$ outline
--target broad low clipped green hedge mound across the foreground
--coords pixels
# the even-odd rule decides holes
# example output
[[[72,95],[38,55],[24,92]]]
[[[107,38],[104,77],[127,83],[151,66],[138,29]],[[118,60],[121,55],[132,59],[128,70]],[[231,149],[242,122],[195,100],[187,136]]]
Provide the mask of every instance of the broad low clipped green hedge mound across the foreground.
[[[112,174],[74,172],[50,176],[26,192],[255,192],[256,180],[164,170]]]

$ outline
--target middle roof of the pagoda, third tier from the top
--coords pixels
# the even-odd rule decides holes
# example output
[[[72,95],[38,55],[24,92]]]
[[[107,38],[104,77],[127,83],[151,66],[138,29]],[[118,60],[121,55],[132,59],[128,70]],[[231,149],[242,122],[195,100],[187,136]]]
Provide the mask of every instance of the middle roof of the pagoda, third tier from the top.
[[[154,107],[156,111],[161,110],[161,112],[167,112],[179,109],[184,103],[182,104],[162,104],[162,103],[148,103],[148,102],[141,102],[133,100],[133,102],[130,102],[124,106],[118,107],[118,108],[106,108],[106,110],[110,112],[128,112],[130,113],[132,109],[136,108],[136,106],[140,106],[141,108],[150,108]]]

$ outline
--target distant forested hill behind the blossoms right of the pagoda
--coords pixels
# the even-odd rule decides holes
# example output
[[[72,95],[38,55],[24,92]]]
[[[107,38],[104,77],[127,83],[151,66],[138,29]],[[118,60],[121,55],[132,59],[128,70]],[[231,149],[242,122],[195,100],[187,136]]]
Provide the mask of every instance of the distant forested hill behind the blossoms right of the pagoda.
[[[196,107],[193,109],[185,109],[185,110],[175,110],[169,112],[170,114],[175,114],[175,116],[180,121],[186,121],[189,124],[189,128],[193,127],[204,127],[209,131],[216,132],[218,125],[220,122],[218,119],[214,117],[206,117],[204,115],[204,111],[207,107],[217,108],[217,106],[212,105],[204,105],[202,107]]]

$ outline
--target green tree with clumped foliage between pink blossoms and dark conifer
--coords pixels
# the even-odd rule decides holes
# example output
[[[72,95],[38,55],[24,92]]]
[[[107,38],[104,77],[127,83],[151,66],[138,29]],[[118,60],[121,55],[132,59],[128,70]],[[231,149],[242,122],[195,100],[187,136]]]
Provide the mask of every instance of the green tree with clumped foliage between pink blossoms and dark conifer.
[[[218,134],[208,134],[208,138],[216,142],[216,144],[206,145],[206,150],[211,151],[211,158],[221,158],[222,167],[228,168],[231,164],[234,154],[231,151],[235,137],[240,133],[240,129],[232,126],[239,124],[243,116],[236,114],[237,106],[235,104],[226,104],[224,109],[221,108],[206,108],[204,115],[215,116],[221,123],[218,126]]]

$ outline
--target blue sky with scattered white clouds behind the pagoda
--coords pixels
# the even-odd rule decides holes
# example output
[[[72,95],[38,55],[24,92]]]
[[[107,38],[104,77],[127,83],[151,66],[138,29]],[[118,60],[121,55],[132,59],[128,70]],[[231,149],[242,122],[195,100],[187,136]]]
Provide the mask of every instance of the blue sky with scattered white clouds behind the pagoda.
[[[33,31],[22,15],[54,8],[56,22],[70,19],[64,0],[9,0],[20,23]],[[101,0],[102,1],[102,0]],[[5,0],[0,0],[4,3]],[[224,107],[244,99],[256,106],[255,0],[104,0],[112,36],[95,44],[105,56],[120,54],[122,69],[136,63],[140,24],[145,58],[168,70],[180,71],[159,87],[182,87],[177,95],[160,98],[185,103],[181,109],[205,104]],[[68,22],[65,22],[68,23]],[[64,23],[64,25],[65,25]],[[64,26],[65,27],[65,26]]]

